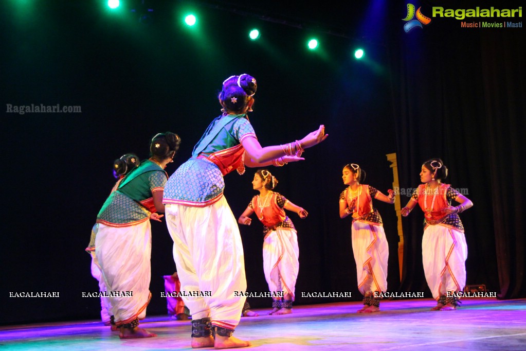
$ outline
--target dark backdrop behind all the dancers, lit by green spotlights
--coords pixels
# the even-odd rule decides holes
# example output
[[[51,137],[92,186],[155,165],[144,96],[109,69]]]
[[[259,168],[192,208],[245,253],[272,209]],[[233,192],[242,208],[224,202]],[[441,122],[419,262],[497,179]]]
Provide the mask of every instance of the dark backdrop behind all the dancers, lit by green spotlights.
[[[526,295],[519,213],[526,135],[523,28],[461,28],[457,19],[434,18],[405,33],[405,2],[299,8],[272,1],[251,7],[152,1],[144,8],[122,2],[127,8],[120,14],[107,12],[102,1],[0,5],[4,111],[7,104],[82,107],[77,114],[2,113],[7,212],[1,323],[98,318],[99,300],[81,297],[98,288],[84,248],[114,183],[113,160],[127,152],[146,158],[149,138],[171,131],[183,139],[167,168],[173,173],[220,113],[221,82],[244,72],[258,79],[250,120],[262,145],[294,141],[321,123],[329,134],[306,151],[306,161],[271,169],[279,179],[276,190],[310,214],[305,220],[291,214],[300,246],[297,304],[345,300],[301,292],[351,292],[352,300],[360,299],[350,220],[338,216],[341,169],[360,164],[365,183],[386,193],[392,172],[385,155],[395,152],[401,187],[416,187],[421,163],[438,156],[450,168],[447,182],[469,189],[475,206],[461,215],[468,284],[487,284],[503,298]],[[422,12],[429,16],[438,3],[484,6],[430,1],[420,3]],[[198,11],[198,28],[180,24],[187,8]],[[139,22],[143,12],[149,16]],[[261,41],[247,38],[254,26]],[[317,52],[305,48],[311,34],[321,41]],[[351,54],[359,45],[366,57],[355,61]],[[247,169],[244,176],[225,177],[236,217],[255,195],[253,174]],[[402,204],[408,199],[402,196]],[[390,205],[376,206],[390,247],[389,290],[430,296],[421,267],[421,213],[416,209],[403,219],[400,282],[396,214]],[[253,223],[241,227],[247,290],[264,292],[262,227]],[[150,315],[166,313],[162,275],[175,270],[165,223],[152,226]],[[60,297],[14,298],[9,292]],[[249,302],[269,305],[262,298]]]

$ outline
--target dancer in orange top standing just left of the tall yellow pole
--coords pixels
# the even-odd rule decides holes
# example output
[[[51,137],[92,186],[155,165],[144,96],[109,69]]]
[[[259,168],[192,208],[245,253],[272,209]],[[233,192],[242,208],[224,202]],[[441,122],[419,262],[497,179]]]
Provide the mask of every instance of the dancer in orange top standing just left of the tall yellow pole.
[[[372,207],[372,198],[395,203],[395,192],[386,196],[372,186],[361,184],[365,171],[355,163],[343,167],[343,184],[347,189],[340,194],[340,218],[352,215],[352,252],[355,255],[358,289],[363,295],[363,307],[358,313],[380,310],[379,293],[387,290],[387,259],[389,247],[383,232],[382,217]]]

